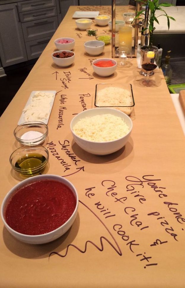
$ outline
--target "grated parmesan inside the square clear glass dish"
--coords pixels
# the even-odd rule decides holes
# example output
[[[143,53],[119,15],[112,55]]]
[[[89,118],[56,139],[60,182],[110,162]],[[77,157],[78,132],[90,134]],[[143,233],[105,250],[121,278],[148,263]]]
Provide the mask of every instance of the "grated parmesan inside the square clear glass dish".
[[[103,106],[132,106],[132,98],[130,92],[119,87],[106,87],[98,91],[96,97],[96,105]],[[125,112],[127,115],[131,113],[132,107],[115,107]]]

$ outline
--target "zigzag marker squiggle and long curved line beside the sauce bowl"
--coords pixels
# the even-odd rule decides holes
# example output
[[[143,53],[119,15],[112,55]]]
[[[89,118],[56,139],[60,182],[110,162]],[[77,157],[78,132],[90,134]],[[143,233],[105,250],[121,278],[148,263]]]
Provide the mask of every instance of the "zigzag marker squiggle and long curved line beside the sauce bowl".
[[[115,240],[114,236],[111,234],[111,232],[109,231],[109,229],[106,227],[106,225],[101,221],[101,219],[100,219],[86,204],[84,204],[84,203],[83,203],[82,201],[80,201],[80,200],[79,200],[79,202],[80,202],[82,205],[84,205],[91,213],[93,213],[93,214],[95,215],[95,217],[101,222],[101,224],[105,227],[105,229],[106,229],[106,230],[108,231],[108,233],[111,235],[112,239],[114,240],[114,242],[115,242],[115,244],[116,244],[116,247],[115,247],[115,245],[113,245],[106,237],[101,236],[101,237],[100,237],[101,247],[98,247],[98,245],[96,245],[96,244],[93,243],[92,241],[87,240],[87,241],[85,242],[85,248],[84,248],[84,250],[81,250],[79,247],[77,247],[77,246],[74,245],[74,244],[69,244],[69,245],[67,246],[67,249],[66,249],[66,253],[65,253],[65,254],[62,255],[62,254],[60,254],[60,253],[58,253],[58,252],[53,251],[53,252],[50,253],[49,258],[50,258],[50,256],[51,256],[52,254],[56,254],[56,255],[58,255],[58,256],[60,256],[60,257],[66,257],[66,255],[68,254],[68,249],[69,249],[70,246],[76,248],[76,249],[77,249],[79,252],[81,252],[81,253],[85,253],[85,252],[87,251],[87,243],[91,243],[91,244],[92,244],[93,246],[95,246],[99,251],[102,252],[103,249],[104,249],[102,239],[106,240],[106,241],[111,245],[111,247],[116,251],[116,253],[117,253],[119,256],[122,256],[122,251],[121,251],[121,249],[120,249],[117,241]]]

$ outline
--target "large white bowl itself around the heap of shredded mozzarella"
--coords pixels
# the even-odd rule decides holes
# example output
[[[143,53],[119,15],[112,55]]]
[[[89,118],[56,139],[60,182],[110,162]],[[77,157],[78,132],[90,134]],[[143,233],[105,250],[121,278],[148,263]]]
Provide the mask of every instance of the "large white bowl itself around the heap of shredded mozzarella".
[[[127,124],[129,127],[129,131],[126,135],[122,136],[121,138],[113,141],[104,141],[104,142],[94,142],[86,139],[82,139],[78,135],[74,133],[74,125],[79,122],[80,119],[86,118],[86,117],[93,117],[96,115],[103,115],[103,114],[111,114],[117,117],[121,117],[124,122]],[[93,108],[93,109],[88,109],[85,110],[78,115],[76,115],[72,121],[71,121],[71,133],[73,135],[74,140],[76,143],[81,147],[83,150],[95,154],[95,155],[108,155],[111,153],[114,153],[121,149],[125,144],[127,143],[130,133],[132,131],[132,120],[130,119],[129,116],[127,116],[125,113],[113,109],[113,108]]]

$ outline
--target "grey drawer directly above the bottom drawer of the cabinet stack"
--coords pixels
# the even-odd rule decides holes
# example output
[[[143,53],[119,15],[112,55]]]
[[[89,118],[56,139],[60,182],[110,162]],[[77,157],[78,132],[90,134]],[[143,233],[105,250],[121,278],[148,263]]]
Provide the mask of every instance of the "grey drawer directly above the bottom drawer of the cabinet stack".
[[[31,22],[22,23],[23,35],[25,42],[39,40],[54,34],[58,27],[58,18],[50,17]]]

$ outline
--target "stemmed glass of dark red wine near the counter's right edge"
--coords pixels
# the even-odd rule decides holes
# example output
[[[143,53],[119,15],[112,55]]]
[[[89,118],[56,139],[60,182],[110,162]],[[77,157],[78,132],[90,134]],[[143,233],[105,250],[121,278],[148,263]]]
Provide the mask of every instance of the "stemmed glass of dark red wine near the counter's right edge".
[[[154,86],[154,81],[149,80],[149,74],[155,68],[157,68],[158,51],[156,49],[147,48],[143,51],[141,58],[141,66],[147,71],[146,80],[142,81],[142,84],[146,87]]]

